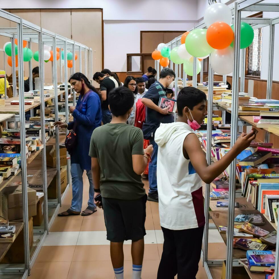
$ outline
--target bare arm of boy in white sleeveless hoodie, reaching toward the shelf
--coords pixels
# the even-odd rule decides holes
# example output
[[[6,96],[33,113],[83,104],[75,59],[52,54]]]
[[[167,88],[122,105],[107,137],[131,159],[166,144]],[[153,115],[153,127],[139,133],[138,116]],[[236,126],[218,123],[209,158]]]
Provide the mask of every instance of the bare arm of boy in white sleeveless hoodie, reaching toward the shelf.
[[[253,130],[252,130],[253,131]],[[242,133],[237,139],[232,149],[219,161],[208,166],[204,151],[202,151],[201,143],[198,137],[191,133],[183,143],[183,149],[186,151],[189,159],[205,183],[211,183],[218,175],[220,175],[233,161],[233,159],[245,148],[249,147],[252,140],[256,138],[254,132],[248,134]]]

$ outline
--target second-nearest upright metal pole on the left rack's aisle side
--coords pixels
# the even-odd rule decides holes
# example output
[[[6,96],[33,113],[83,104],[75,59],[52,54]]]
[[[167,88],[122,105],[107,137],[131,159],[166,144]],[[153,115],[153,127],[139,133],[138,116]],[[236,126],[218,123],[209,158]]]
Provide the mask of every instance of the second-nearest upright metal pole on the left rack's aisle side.
[[[48,206],[47,206],[47,168],[46,168],[46,137],[45,137],[45,102],[44,102],[44,47],[42,42],[42,32],[38,33],[38,45],[39,45],[39,76],[40,76],[40,102],[41,102],[41,131],[42,131],[42,172],[43,172],[43,192],[44,192],[44,225],[49,232],[48,227]]]

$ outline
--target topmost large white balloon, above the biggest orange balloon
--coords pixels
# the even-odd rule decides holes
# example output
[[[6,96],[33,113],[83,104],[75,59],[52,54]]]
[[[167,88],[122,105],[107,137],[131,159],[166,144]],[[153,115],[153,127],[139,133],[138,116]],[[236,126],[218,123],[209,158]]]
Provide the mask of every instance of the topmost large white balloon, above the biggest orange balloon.
[[[210,5],[204,13],[204,23],[209,27],[214,22],[232,23],[231,9],[223,3],[214,3]]]

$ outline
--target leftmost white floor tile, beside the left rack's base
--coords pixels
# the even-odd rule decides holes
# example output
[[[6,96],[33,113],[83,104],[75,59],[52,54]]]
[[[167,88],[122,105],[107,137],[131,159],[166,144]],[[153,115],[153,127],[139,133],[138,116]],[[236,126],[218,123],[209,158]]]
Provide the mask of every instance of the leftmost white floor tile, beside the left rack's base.
[[[77,245],[79,231],[50,232],[44,246]]]

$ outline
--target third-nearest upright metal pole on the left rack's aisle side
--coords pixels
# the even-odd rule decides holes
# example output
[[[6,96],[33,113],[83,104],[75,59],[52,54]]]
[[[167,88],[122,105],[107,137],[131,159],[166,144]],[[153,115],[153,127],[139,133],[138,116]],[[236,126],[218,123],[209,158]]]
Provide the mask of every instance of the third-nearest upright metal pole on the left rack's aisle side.
[[[53,38],[53,48],[56,50],[56,34]],[[64,56],[67,56],[67,52]],[[56,55],[55,59],[53,59],[53,84],[54,84],[54,113],[55,113],[55,122],[58,121],[58,88],[57,88],[57,60]],[[68,84],[65,84],[68,87]],[[57,169],[57,196],[58,196],[58,204],[61,205],[61,184],[60,184],[60,150],[59,150],[59,128],[55,127],[55,149],[56,149],[56,169]]]

